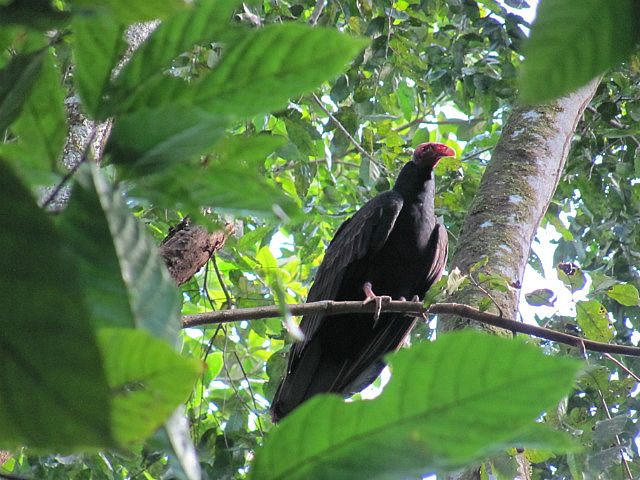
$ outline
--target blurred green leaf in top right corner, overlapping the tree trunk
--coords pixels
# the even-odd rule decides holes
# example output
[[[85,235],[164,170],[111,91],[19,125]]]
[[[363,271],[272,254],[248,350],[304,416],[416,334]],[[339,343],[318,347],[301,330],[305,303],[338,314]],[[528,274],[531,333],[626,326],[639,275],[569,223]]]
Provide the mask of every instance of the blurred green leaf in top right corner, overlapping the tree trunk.
[[[629,57],[639,39],[634,0],[542,0],[525,49],[523,100],[577,89]]]

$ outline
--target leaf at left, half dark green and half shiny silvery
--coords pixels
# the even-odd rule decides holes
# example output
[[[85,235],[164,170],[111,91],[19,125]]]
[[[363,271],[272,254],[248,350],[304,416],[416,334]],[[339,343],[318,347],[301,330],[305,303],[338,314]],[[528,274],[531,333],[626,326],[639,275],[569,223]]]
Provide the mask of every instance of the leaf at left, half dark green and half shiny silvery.
[[[144,328],[175,342],[180,297],[146,227],[94,169],[80,175],[60,229],[97,326]]]

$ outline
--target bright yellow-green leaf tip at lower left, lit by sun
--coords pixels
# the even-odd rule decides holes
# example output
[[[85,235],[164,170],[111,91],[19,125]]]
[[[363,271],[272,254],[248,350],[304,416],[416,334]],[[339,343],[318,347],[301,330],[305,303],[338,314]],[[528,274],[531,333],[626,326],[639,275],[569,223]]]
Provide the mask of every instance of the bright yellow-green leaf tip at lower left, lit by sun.
[[[142,330],[104,328],[98,340],[112,395],[113,435],[119,445],[142,440],[187,399],[200,362]]]

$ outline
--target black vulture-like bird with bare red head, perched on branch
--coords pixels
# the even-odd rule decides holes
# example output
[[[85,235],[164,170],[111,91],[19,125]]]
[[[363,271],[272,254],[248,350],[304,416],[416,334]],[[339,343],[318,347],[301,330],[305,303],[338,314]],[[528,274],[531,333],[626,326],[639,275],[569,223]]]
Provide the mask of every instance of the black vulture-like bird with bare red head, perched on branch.
[[[395,185],[366,202],[331,240],[307,302],[375,302],[374,313],[303,316],[304,340],[289,351],[284,378],[271,403],[278,422],[320,393],[348,397],[370,385],[416,319],[380,312],[390,299],[423,298],[447,262],[448,237],[434,213],[433,170],[455,151],[441,143],[418,145]]]

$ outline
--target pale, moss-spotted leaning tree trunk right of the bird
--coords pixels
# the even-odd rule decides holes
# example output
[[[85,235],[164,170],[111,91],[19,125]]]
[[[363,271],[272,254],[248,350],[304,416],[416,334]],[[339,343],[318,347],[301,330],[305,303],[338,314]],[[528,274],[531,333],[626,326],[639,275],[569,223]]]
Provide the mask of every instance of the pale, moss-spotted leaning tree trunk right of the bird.
[[[495,302],[490,310],[517,318],[531,242],[560,180],[575,128],[598,83],[596,79],[547,105],[513,110],[465,218],[451,269],[457,267],[468,274],[483,258],[487,263],[472,274],[475,281],[454,292],[448,301],[478,306],[489,293]],[[487,292],[477,285],[480,272],[504,278],[507,290]],[[442,316],[438,325],[440,331],[471,326],[510,334],[457,316]]]

